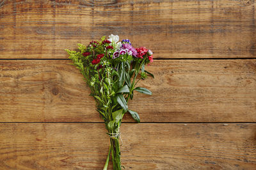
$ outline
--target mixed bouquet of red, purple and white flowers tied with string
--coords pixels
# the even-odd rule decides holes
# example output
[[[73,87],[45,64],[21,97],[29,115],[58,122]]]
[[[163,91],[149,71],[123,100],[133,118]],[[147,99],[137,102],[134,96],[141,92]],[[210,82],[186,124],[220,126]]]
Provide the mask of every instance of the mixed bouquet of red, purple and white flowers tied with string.
[[[145,70],[145,64],[153,62],[152,52],[145,47],[134,48],[129,39],[119,41],[111,34],[100,41],[91,41],[88,46],[78,44],[78,51],[66,50],[69,59],[83,74],[96,101],[97,111],[104,120],[110,147],[104,169],[108,168],[112,155],[113,169],[121,169],[120,125],[125,113],[130,113],[136,122],[140,117],[136,111],[129,110],[127,103],[134,90],[151,95],[150,90],[136,87],[141,79],[153,74]]]

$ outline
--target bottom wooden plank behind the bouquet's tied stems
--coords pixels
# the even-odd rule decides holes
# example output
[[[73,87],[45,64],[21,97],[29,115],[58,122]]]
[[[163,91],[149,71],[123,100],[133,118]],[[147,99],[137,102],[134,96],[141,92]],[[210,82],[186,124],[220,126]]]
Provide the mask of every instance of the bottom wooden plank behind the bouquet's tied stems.
[[[1,169],[102,169],[109,146],[104,128],[0,124]],[[122,124],[121,130],[125,169],[256,167],[256,124]]]

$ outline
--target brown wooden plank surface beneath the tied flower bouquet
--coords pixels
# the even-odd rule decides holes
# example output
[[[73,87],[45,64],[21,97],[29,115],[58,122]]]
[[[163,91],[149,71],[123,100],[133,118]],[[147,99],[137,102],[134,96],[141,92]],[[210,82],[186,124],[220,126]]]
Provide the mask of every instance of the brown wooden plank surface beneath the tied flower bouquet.
[[[0,1],[0,169],[102,169],[109,139],[65,48],[118,34],[155,79],[125,115],[125,169],[256,169],[256,2]],[[111,169],[111,162],[109,169]]]

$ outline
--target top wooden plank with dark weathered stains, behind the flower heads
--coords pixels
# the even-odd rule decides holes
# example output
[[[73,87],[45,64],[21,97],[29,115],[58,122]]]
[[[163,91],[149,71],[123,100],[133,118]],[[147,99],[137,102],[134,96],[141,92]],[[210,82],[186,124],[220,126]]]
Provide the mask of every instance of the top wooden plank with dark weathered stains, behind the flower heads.
[[[255,57],[254,1],[2,1],[0,57],[66,59],[118,34],[156,58]]]

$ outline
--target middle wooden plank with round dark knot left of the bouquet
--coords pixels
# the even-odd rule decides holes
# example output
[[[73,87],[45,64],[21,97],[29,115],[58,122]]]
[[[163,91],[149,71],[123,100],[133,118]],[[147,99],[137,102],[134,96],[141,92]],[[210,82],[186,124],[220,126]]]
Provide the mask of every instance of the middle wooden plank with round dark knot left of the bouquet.
[[[256,60],[156,60],[142,122],[256,122]],[[69,60],[0,60],[0,122],[102,122]],[[131,117],[124,121],[133,122]]]

